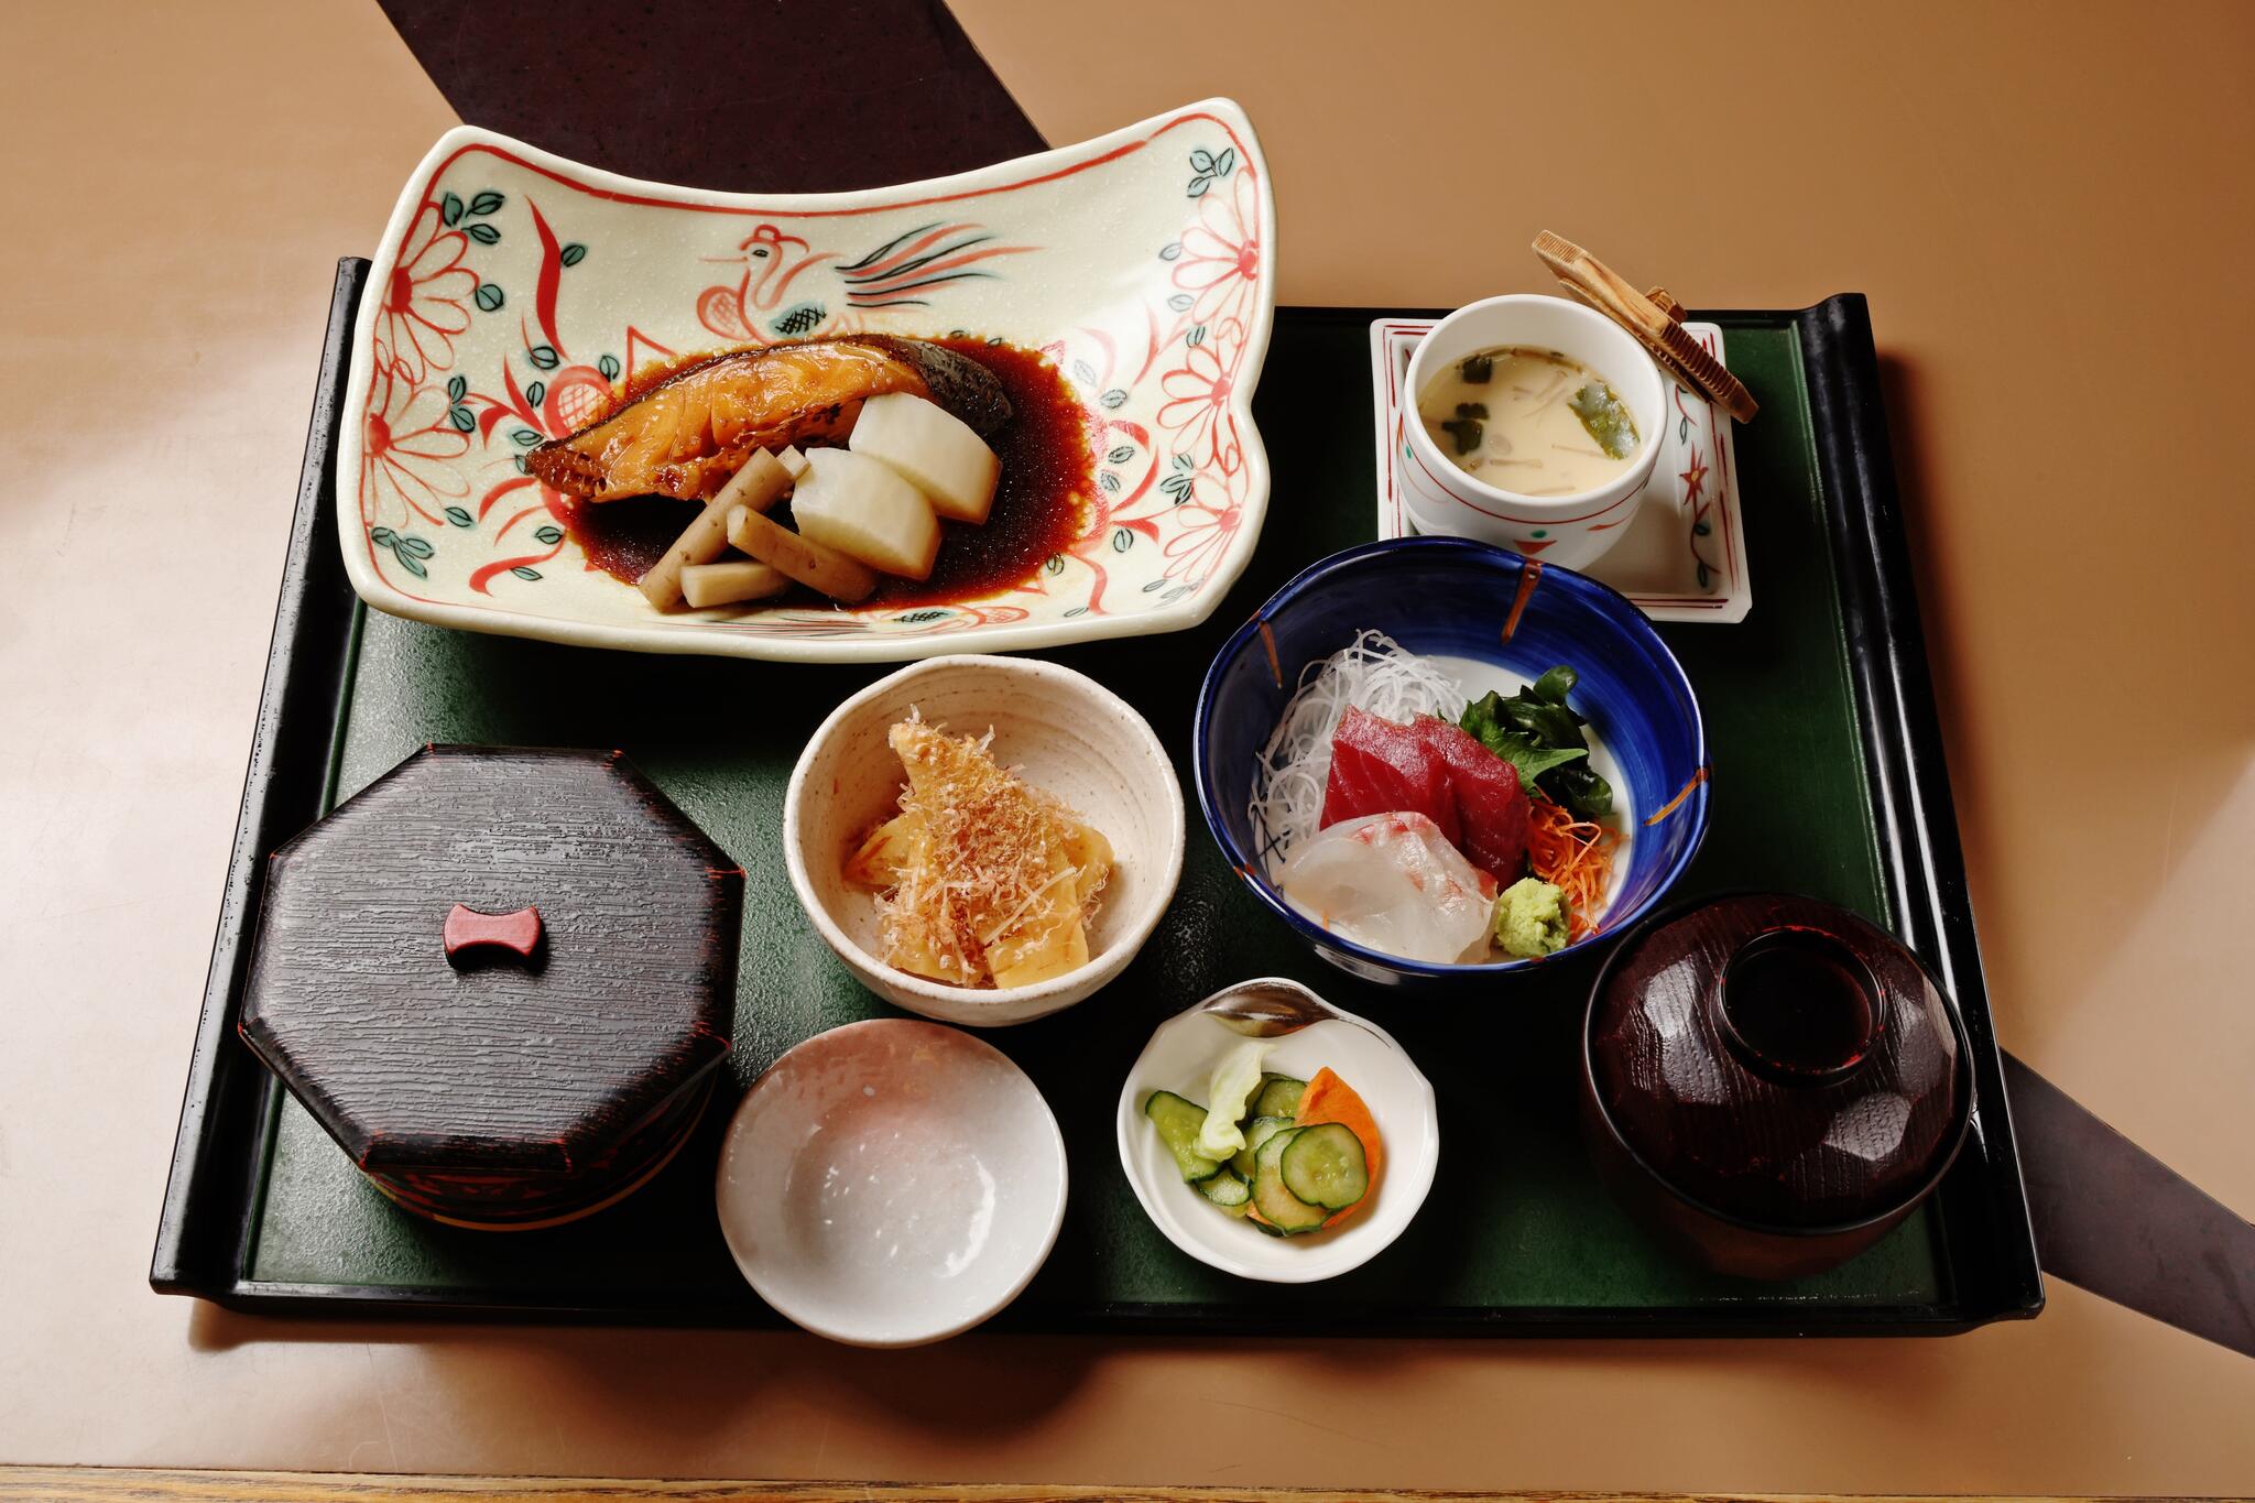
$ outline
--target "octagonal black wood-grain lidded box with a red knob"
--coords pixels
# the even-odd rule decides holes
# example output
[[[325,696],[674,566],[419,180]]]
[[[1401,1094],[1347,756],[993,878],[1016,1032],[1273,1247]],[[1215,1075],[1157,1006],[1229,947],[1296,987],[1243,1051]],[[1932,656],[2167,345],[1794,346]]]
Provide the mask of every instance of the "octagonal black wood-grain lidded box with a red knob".
[[[571,1219],[704,1109],[742,890],[620,753],[426,746],[273,854],[239,1032],[410,1210]]]

